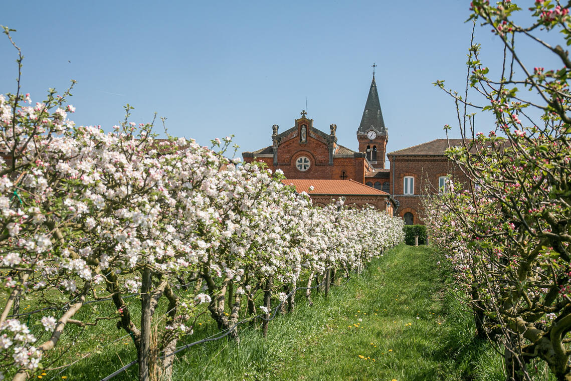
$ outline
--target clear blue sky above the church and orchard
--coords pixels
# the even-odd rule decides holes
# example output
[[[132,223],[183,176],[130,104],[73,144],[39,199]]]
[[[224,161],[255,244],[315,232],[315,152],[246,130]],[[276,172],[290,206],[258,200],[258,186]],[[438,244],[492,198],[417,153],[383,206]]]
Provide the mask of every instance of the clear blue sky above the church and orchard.
[[[461,0],[13,1],[0,24],[17,29],[34,102],[75,79],[77,125],[110,131],[130,103],[134,122],[156,112],[170,134],[202,145],[234,134],[239,153],[270,145],[271,126],[292,127],[306,101],[314,127],[335,123],[338,142],[357,150],[374,62],[390,152],[455,123],[432,82],[463,89],[468,16]],[[489,27],[477,38],[500,42]],[[15,91],[16,58],[0,37],[0,93]]]

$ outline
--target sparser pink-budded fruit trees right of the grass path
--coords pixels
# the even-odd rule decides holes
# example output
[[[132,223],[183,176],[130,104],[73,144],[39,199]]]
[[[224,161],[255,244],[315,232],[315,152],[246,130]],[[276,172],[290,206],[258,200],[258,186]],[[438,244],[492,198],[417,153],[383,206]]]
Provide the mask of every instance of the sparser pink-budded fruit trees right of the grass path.
[[[532,379],[529,364],[543,361],[558,380],[571,380],[571,61],[544,37],[558,32],[555,39],[570,45],[571,17],[567,6],[548,0],[526,10],[508,0],[475,0],[471,9],[503,42],[503,64],[485,66],[473,44],[465,95],[448,91],[465,138],[448,155],[469,182],[435,198],[439,214],[428,218],[441,243],[454,242],[450,253],[478,331],[505,348],[508,379]],[[520,13],[530,17],[525,25],[516,22]],[[528,66],[518,50],[523,39],[558,66]],[[478,110],[495,118],[487,135],[474,133]]]

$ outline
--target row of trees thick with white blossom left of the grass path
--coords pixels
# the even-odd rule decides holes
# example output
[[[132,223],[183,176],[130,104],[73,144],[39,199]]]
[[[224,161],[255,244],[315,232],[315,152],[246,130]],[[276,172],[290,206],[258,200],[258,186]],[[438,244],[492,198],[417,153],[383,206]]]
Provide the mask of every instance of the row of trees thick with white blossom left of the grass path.
[[[77,127],[68,96],[51,90],[31,106],[19,85],[0,95],[2,377],[33,376],[69,324],[113,320],[135,343],[139,379],[168,380],[200,303],[238,339],[241,307],[254,313],[256,292],[267,322],[272,294],[289,294],[293,308],[302,276],[348,274],[403,239],[399,218],[312,208],[281,174],[224,158],[230,138],[211,149],[156,141],[152,125],[128,122],[128,105],[111,133]],[[22,298],[35,311],[21,314]],[[78,314],[104,300],[115,309]]]

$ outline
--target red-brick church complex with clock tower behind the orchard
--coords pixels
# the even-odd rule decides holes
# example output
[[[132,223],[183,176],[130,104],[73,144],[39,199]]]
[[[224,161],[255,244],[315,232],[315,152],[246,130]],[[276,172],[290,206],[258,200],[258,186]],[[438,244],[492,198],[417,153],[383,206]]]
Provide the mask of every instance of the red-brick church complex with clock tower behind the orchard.
[[[388,129],[374,73],[357,128],[359,151],[338,144],[336,130],[336,125],[329,126],[329,133],[316,129],[304,110],[290,129],[279,133],[279,126],[272,126],[271,146],[244,152],[242,157],[245,162],[264,162],[272,171],[282,170],[287,178],[284,183],[307,192],[314,204],[343,196],[346,205],[370,204],[401,216],[407,224],[423,223],[423,194],[445,187],[451,175],[461,176],[444,156],[447,139],[387,154]],[[460,142],[451,139],[451,144],[456,143]],[[385,157],[390,168],[385,168]]]

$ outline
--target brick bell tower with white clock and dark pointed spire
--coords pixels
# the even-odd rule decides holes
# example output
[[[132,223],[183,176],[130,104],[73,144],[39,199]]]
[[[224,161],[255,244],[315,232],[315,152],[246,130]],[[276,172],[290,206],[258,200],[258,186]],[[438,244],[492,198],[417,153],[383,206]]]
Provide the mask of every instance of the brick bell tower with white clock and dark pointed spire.
[[[373,63],[373,81],[371,82],[367,102],[365,102],[361,124],[359,129],[357,129],[357,141],[359,141],[359,152],[367,155],[367,159],[372,166],[376,169],[384,169],[389,135],[383,121],[379,93],[375,83],[375,67],[376,65]]]

